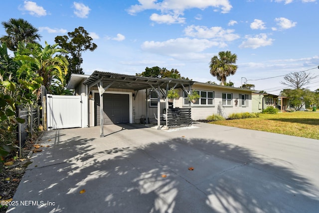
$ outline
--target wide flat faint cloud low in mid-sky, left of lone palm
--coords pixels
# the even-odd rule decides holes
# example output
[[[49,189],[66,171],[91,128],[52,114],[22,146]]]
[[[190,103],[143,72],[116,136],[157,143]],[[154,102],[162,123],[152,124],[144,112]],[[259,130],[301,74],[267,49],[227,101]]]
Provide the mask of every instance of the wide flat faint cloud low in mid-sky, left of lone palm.
[[[207,39],[176,38],[163,42],[145,41],[142,44],[142,49],[153,53],[176,56],[185,53],[201,52],[209,47],[218,45],[218,42]]]

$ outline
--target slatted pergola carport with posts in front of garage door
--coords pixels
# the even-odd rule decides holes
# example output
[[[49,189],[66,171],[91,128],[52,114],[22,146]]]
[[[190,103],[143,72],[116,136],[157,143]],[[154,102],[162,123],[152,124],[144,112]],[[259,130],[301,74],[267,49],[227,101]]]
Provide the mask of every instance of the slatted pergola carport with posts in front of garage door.
[[[97,86],[100,94],[100,113],[103,115],[103,94],[109,88],[114,89],[132,89],[136,91],[144,89],[153,89],[158,95],[158,118],[160,118],[160,98],[166,99],[166,108],[168,108],[167,92],[170,88],[181,88],[183,91],[189,93],[191,85],[194,81],[175,79],[175,78],[151,78],[135,75],[124,75],[118,73],[94,71],[84,82],[89,90],[93,86]],[[186,87],[188,87],[186,89]],[[148,110],[146,108],[146,110]],[[166,110],[166,117],[167,117]],[[146,113],[147,115],[148,113]],[[148,119],[146,119],[148,121]],[[103,133],[103,116],[100,116],[101,137]],[[167,126],[167,119],[166,119]],[[160,129],[160,119],[158,119],[158,129]]]

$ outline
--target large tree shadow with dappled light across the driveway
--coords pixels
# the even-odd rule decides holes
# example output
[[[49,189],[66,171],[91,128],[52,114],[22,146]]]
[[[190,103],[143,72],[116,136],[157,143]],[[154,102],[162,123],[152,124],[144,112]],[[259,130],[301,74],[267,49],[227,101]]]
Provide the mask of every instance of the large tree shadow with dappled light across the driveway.
[[[113,152],[94,143],[72,137],[37,153],[13,200],[54,205],[8,212],[318,212],[318,189],[308,179],[243,147],[171,138]]]

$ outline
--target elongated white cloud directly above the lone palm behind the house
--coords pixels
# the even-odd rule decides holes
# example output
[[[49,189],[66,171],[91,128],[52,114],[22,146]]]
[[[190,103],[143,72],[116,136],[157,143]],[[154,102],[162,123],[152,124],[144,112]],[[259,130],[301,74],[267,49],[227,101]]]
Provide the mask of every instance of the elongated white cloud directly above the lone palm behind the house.
[[[223,29],[220,26],[206,27],[190,25],[184,29],[185,35],[198,38],[214,39],[220,41],[232,41],[240,36],[233,33],[233,29]]]

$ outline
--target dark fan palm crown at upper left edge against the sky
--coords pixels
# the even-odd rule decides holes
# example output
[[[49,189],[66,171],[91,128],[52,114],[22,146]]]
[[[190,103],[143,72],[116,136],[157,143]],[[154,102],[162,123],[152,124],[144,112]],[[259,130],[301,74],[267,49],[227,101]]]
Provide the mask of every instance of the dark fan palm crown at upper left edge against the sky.
[[[8,49],[15,51],[19,41],[24,43],[35,43],[40,40],[41,35],[38,29],[22,18],[10,18],[9,21],[2,21],[1,24],[5,28],[7,35],[0,37],[0,41],[5,42]]]

